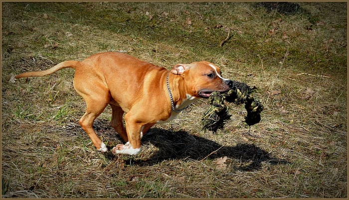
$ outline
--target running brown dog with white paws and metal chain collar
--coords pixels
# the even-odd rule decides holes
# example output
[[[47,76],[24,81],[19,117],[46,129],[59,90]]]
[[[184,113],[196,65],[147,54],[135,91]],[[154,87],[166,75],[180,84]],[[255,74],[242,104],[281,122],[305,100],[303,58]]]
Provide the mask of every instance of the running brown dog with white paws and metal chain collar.
[[[81,62],[65,61],[14,78],[46,76],[63,68],[75,69],[74,88],[87,105],[79,123],[98,151],[108,149],[92,125],[108,104],[112,107],[111,125],[127,142],[114,147],[114,154],[138,154],[143,134],[154,124],[168,122],[190,103],[232,87],[232,81],[223,79],[219,68],[206,61],[176,64],[169,71],[116,52],[98,53]]]

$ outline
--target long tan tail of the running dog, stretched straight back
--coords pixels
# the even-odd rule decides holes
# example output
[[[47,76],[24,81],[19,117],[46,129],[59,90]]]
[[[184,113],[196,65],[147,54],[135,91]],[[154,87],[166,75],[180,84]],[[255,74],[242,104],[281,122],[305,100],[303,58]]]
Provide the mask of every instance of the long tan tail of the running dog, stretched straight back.
[[[52,67],[48,70],[38,71],[38,72],[25,72],[22,74],[18,74],[17,76],[15,76],[13,78],[19,79],[19,78],[24,78],[24,77],[43,77],[46,75],[53,74],[53,73],[57,72],[58,70],[61,70],[64,68],[76,69],[76,67],[79,65],[79,63],[80,63],[79,61],[73,61],[73,60],[64,61],[64,62],[61,62],[61,63],[55,65],[54,67]]]

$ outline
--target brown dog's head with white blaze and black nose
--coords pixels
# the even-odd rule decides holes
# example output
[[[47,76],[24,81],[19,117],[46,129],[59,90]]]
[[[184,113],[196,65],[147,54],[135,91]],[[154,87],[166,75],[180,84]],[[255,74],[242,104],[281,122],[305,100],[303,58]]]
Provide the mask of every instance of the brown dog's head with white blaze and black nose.
[[[217,66],[206,61],[176,64],[171,73],[185,81],[188,95],[192,97],[208,98],[212,92],[226,92],[233,87],[233,82],[224,79]]]

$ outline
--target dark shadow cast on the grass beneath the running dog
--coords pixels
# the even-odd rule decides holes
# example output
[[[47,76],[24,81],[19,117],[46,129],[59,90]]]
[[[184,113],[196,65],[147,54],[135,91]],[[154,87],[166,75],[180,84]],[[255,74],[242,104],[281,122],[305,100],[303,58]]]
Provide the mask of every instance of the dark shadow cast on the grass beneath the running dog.
[[[195,136],[186,131],[171,131],[161,128],[150,129],[142,138],[144,145],[152,144],[159,150],[146,160],[134,157],[125,163],[130,165],[149,166],[161,163],[164,160],[202,160],[227,157],[240,161],[236,170],[259,170],[262,162],[272,165],[288,164],[286,160],[271,157],[271,155],[254,144],[237,144],[235,146],[222,146],[212,140]]]

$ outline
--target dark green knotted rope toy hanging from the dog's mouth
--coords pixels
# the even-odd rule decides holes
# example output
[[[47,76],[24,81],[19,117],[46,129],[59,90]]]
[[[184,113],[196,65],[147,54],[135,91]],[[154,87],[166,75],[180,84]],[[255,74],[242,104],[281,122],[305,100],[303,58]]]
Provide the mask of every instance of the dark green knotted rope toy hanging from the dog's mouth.
[[[260,122],[260,113],[263,110],[263,105],[260,100],[250,96],[251,92],[255,89],[255,87],[251,89],[245,83],[233,81],[233,87],[228,92],[223,94],[213,92],[208,98],[210,106],[201,119],[203,129],[212,132],[223,129],[224,124],[231,116],[228,113],[229,108],[224,104],[224,100],[235,104],[245,103],[245,109],[247,110],[245,122],[250,127]]]

